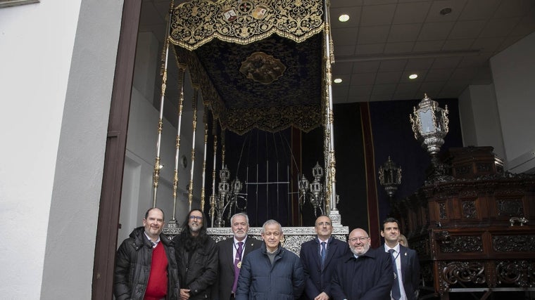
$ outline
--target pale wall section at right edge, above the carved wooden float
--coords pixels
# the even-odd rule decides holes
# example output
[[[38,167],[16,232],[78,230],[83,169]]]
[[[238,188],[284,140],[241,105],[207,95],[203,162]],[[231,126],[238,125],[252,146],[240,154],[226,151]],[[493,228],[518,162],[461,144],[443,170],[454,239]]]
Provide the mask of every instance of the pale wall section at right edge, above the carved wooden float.
[[[535,33],[491,58],[507,167],[535,168]]]

